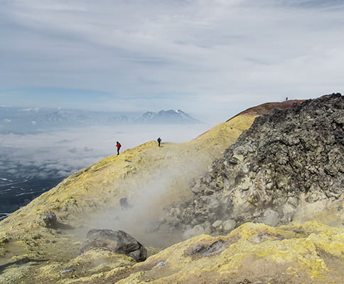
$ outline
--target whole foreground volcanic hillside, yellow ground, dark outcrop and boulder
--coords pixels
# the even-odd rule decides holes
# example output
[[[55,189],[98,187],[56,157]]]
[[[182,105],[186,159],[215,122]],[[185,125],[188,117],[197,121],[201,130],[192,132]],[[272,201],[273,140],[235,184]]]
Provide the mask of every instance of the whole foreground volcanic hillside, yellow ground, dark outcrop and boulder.
[[[343,283],[343,126],[328,94],[104,158],[0,222],[0,283]]]

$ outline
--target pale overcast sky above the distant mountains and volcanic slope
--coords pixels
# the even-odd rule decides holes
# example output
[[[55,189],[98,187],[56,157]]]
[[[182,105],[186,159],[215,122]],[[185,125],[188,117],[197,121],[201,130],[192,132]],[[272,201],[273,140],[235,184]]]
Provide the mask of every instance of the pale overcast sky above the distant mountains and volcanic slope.
[[[228,119],[343,92],[343,0],[0,0],[0,105]]]

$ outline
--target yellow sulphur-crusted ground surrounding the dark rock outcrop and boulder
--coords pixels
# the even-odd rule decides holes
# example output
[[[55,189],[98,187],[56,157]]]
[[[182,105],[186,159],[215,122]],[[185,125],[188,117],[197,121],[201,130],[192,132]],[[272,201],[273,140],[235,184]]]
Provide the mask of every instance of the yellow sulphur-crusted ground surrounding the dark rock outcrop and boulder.
[[[298,105],[296,102],[294,107],[297,109]],[[46,284],[340,283],[343,279],[343,271],[340,271],[344,251],[343,224],[333,227],[318,223],[323,222],[324,216],[334,217],[337,225],[343,223],[338,200],[330,206],[323,204],[323,207],[316,203],[317,207],[311,209],[316,208],[323,216],[314,216],[312,222],[303,224],[273,227],[244,223],[227,236],[217,236],[222,229],[213,226],[215,236],[207,236],[204,233],[208,232],[204,228],[202,231],[196,223],[188,233],[200,236],[186,241],[181,240],[189,237],[185,234],[188,228],[177,234],[180,219],[176,210],[161,219],[162,214],[166,214],[164,207],[169,204],[194,200],[195,193],[206,190],[207,197],[215,194],[215,179],[217,173],[222,172],[210,169],[217,164],[225,166],[227,155],[230,155],[226,149],[239,141],[235,149],[243,151],[244,142],[239,137],[250,138],[252,145],[259,143],[262,134],[253,135],[249,129],[252,124],[269,121],[270,116],[259,116],[257,111],[251,109],[235,116],[190,142],[162,143],[158,148],[155,141],[149,141],[119,156],[104,158],[63,180],[0,222],[0,271],[4,271],[0,281],[25,284],[37,281]],[[279,117],[278,110],[269,111],[272,117]],[[293,111],[290,110],[290,115]],[[260,122],[257,117],[262,118]],[[269,131],[270,126],[264,125],[264,131]],[[304,126],[316,129],[311,122]],[[269,137],[274,135],[272,131]],[[247,148],[252,147],[247,145]],[[239,167],[246,166],[250,155],[246,158],[240,155],[237,153],[232,162]],[[234,178],[238,186],[247,185],[244,178],[248,172],[244,166],[240,168],[244,176]],[[206,181],[204,189],[195,186],[202,179]],[[222,180],[222,185],[224,183]],[[247,191],[240,188],[237,192]],[[119,200],[123,197],[128,199],[129,209],[121,209]],[[200,198],[195,200],[200,201]],[[237,205],[240,207],[240,202]],[[217,205],[213,203],[213,206]],[[200,208],[208,209],[206,206]],[[179,214],[184,209],[182,207]],[[48,226],[43,219],[50,212],[56,214],[56,227]],[[197,214],[206,216],[208,213]],[[309,214],[309,210],[301,214]],[[273,213],[268,217],[274,221]],[[135,264],[131,258],[104,248],[79,255],[87,230],[99,227],[129,231],[148,246],[149,258]],[[149,245],[167,247],[160,251]],[[27,265],[17,266],[16,261]]]

